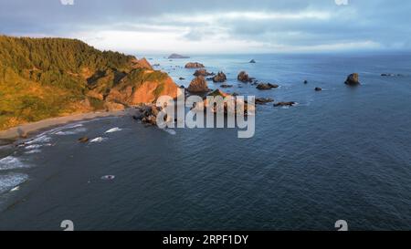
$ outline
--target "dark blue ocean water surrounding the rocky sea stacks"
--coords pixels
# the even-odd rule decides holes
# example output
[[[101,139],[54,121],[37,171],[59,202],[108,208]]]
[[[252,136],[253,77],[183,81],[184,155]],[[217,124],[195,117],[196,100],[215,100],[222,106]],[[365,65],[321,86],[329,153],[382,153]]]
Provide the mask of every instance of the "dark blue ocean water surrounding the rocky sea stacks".
[[[0,230],[411,228],[411,54],[148,58],[178,85],[198,61],[227,74],[227,93],[298,104],[258,106],[251,139],[115,117],[0,147]],[[279,88],[238,82],[240,70]],[[344,85],[353,72],[356,88]]]

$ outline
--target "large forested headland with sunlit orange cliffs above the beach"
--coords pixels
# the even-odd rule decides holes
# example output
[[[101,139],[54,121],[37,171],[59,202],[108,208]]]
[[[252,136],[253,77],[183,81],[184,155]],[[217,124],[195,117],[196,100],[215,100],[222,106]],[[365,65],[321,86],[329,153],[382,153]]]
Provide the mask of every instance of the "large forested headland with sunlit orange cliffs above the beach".
[[[177,88],[145,58],[102,52],[73,39],[0,36],[0,130],[175,98]]]

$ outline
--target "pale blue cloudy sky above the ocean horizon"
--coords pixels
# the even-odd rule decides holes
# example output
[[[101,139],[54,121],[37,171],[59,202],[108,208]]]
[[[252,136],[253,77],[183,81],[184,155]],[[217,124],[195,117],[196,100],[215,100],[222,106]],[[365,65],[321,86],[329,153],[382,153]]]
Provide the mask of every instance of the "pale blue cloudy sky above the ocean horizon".
[[[404,0],[0,0],[0,34],[126,53],[411,50],[410,13]]]

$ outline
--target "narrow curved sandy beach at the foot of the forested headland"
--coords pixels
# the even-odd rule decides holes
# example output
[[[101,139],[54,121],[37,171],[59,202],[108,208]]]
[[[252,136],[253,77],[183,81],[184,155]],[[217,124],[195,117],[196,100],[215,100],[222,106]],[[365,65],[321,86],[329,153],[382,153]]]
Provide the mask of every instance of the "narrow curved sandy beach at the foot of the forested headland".
[[[115,110],[115,111],[96,111],[96,112],[87,112],[80,114],[73,114],[64,117],[43,119],[37,122],[31,122],[22,124],[8,130],[0,130],[0,145],[10,144],[20,139],[27,139],[32,135],[36,134],[37,131],[51,129],[54,127],[66,125],[68,123],[106,118],[106,117],[121,117],[128,115],[130,109],[124,110]],[[26,138],[23,138],[21,134],[26,134]]]

